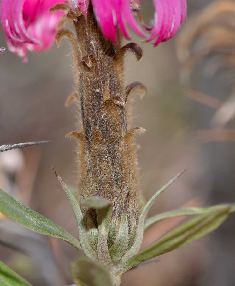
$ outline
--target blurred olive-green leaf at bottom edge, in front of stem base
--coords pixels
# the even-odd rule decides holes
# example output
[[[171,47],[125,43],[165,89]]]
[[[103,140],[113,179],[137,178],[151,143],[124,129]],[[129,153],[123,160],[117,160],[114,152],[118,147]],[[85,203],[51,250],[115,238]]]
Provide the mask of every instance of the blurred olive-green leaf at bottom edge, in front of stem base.
[[[86,257],[78,257],[71,264],[73,281],[81,286],[112,286],[105,268]]]

